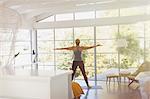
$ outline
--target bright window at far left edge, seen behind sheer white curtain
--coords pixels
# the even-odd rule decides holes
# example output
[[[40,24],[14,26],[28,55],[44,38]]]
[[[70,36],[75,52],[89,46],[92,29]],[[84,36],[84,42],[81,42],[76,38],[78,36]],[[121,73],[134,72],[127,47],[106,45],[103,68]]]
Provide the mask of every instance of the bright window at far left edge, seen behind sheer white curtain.
[[[11,29],[0,28],[0,65],[11,65],[9,64],[9,58],[14,54],[14,43],[12,42],[13,33]],[[12,63],[13,61],[11,61]]]

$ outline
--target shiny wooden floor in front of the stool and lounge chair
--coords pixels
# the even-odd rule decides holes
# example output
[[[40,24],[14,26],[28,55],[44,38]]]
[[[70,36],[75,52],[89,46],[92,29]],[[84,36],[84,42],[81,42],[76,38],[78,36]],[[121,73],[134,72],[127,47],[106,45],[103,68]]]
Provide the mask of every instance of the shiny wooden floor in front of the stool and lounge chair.
[[[105,82],[99,83],[102,89],[84,89],[85,94],[81,99],[142,99],[140,91],[130,89],[127,83],[117,84],[111,82],[110,85]]]

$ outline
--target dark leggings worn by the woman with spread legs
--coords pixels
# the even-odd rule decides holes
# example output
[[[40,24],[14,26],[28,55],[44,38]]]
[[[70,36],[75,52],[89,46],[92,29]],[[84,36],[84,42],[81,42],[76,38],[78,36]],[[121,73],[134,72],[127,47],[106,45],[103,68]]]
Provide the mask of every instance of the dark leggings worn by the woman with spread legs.
[[[86,76],[86,73],[85,73],[85,68],[84,68],[84,63],[83,61],[73,61],[73,64],[72,64],[72,70],[73,70],[73,73],[72,73],[72,80],[74,78],[74,75],[76,73],[76,69],[77,69],[77,66],[79,66],[81,72],[82,72],[82,75],[84,77],[84,80],[87,84],[87,86],[89,86],[89,83],[88,83],[88,78]]]

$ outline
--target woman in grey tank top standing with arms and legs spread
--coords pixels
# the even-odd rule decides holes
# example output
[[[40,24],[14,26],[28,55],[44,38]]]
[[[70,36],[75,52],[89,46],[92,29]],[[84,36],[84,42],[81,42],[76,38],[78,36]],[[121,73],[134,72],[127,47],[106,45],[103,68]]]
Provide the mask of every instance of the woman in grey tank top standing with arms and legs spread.
[[[86,73],[85,73],[84,63],[82,60],[82,51],[87,50],[87,49],[91,49],[91,48],[95,48],[95,47],[101,46],[101,45],[87,47],[87,46],[80,46],[80,40],[79,39],[76,39],[75,42],[76,42],[76,46],[66,47],[66,48],[56,48],[55,50],[72,50],[74,52],[74,60],[73,60],[73,64],[72,64],[72,70],[73,70],[72,80],[74,78],[77,66],[79,66],[88,88],[91,88],[89,86],[88,78],[87,78]]]

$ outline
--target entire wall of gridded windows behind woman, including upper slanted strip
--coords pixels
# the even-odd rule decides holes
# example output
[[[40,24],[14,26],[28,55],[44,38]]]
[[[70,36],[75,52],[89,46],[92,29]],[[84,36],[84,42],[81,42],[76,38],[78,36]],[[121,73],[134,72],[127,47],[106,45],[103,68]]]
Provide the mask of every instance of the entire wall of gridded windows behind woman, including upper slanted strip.
[[[112,18],[148,14],[149,6],[121,8],[111,10],[96,10],[89,12],[74,12],[56,14],[54,21],[78,21],[95,18]],[[120,12],[120,13],[119,13]],[[75,19],[74,19],[75,18]],[[79,23],[80,24],[80,23]],[[54,51],[75,45],[79,38],[81,46],[102,44],[96,49],[83,52],[86,73],[90,80],[105,80],[108,73],[118,73],[121,70],[137,69],[144,60],[150,60],[150,22],[132,24],[113,24],[107,26],[83,26],[72,28],[54,28],[38,30],[38,56],[40,66],[56,66],[67,70],[71,67],[72,51]],[[46,35],[46,36],[45,36]],[[51,37],[50,37],[51,36]],[[117,48],[117,40],[125,39],[127,46]],[[119,53],[119,54],[118,54]],[[83,79],[81,71],[77,70],[77,79]]]

